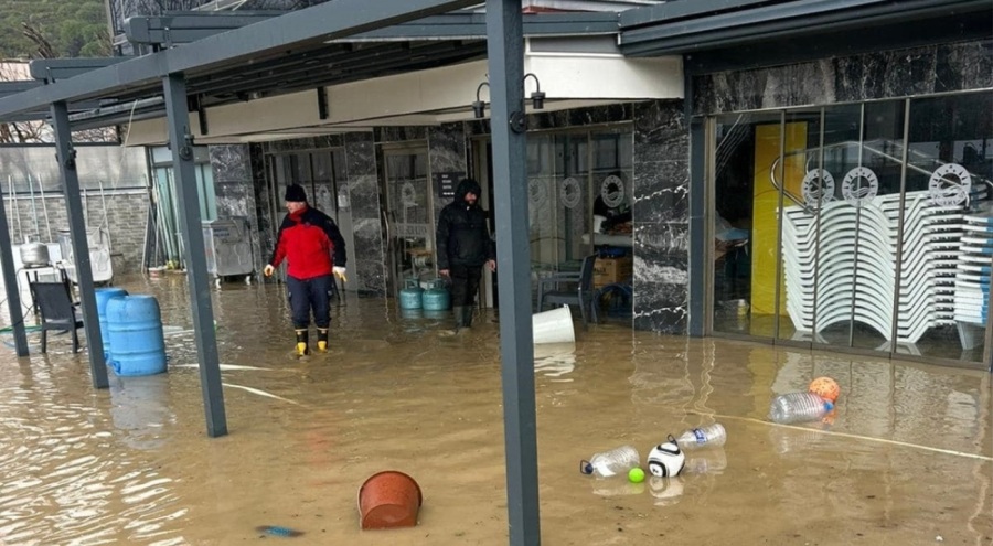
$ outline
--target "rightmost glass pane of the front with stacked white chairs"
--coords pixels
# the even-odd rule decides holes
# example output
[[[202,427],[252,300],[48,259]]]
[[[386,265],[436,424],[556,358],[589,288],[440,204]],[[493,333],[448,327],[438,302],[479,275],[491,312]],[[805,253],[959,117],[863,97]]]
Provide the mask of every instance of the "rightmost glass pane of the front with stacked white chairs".
[[[899,321],[912,343],[898,353],[982,360],[993,265],[991,100],[983,93],[909,101]]]

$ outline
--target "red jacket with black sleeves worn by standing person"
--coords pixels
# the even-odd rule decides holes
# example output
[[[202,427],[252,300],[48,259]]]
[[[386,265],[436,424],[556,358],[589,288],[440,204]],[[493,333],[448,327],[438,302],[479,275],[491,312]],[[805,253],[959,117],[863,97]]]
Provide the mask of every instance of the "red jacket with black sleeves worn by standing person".
[[[287,260],[287,275],[301,280],[331,275],[334,266],[345,267],[348,259],[338,225],[309,205],[282,218],[269,264],[279,267],[282,258]]]

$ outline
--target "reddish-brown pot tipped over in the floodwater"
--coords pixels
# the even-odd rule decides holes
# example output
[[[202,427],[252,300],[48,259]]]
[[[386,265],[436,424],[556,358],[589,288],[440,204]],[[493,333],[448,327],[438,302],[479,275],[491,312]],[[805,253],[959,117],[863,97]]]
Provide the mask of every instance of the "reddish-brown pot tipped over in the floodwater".
[[[413,527],[424,497],[409,475],[385,470],[371,475],[359,488],[359,517],[363,529]]]

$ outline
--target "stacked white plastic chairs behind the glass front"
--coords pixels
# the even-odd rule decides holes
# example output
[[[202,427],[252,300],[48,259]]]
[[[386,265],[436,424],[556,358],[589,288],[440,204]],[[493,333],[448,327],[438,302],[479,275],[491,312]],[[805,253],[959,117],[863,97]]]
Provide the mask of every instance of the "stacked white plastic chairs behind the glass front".
[[[928,329],[954,323],[961,211],[936,205],[928,192],[906,195],[897,343],[916,343]],[[858,206],[824,203],[820,225],[804,207],[784,210],[787,312],[798,331],[855,320],[894,341],[899,212],[898,194],[864,197]]]

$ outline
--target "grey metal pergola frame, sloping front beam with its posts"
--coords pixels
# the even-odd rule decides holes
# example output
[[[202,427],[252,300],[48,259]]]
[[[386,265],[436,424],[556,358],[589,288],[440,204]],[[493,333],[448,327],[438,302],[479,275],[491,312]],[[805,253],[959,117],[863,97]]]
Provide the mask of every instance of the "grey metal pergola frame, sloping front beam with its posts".
[[[93,278],[89,272],[82,203],[75,173],[75,150],[71,141],[70,104],[85,100],[114,100],[121,96],[159,99],[167,110],[169,140],[175,168],[175,183],[184,226],[200,225],[195,199],[192,136],[189,127],[190,99],[194,98],[188,82],[196,85],[224,71],[250,67],[255,63],[282,62],[302,52],[328,47],[341,40],[384,26],[424,19],[477,4],[472,0],[335,0],[277,18],[204,38],[192,45],[159,51],[136,58],[81,73],[55,76],[47,85],[25,86],[19,93],[0,97],[0,121],[51,110],[55,127],[57,159],[63,174],[63,189],[70,212],[71,237],[83,300],[89,364],[97,388],[108,386],[103,357]],[[498,258],[502,290],[501,360],[503,370],[504,433],[506,445],[506,489],[510,543],[541,544],[538,527],[537,450],[534,403],[534,358],[532,353],[530,258],[527,254],[526,143],[523,100],[523,46],[521,0],[488,0],[485,29],[490,85],[492,86],[493,168],[496,179],[495,218]],[[352,46],[343,51],[354,53]],[[54,69],[55,66],[50,66]],[[68,63],[60,68],[78,68]],[[402,68],[397,68],[402,69]],[[406,68],[409,69],[409,66]],[[46,77],[52,71],[45,72]],[[161,97],[161,98],[160,98]],[[523,220],[522,220],[523,218]],[[0,221],[6,220],[0,215]],[[28,354],[25,330],[13,271],[7,223],[0,222],[0,266],[7,280],[8,302],[13,322],[19,356]],[[227,433],[213,310],[206,279],[206,258],[200,229],[183,229],[189,264],[190,304],[196,336],[207,435]],[[523,242],[523,244],[522,244]],[[13,291],[11,292],[11,286]]]

